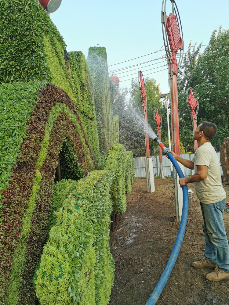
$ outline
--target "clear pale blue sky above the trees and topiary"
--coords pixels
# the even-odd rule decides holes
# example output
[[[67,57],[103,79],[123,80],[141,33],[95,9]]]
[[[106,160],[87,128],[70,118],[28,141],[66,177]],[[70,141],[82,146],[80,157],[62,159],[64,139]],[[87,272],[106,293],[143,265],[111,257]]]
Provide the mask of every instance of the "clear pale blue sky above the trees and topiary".
[[[220,25],[223,29],[229,28],[229,0],[176,0],[176,5],[185,47],[190,40],[191,45],[202,41],[207,45],[212,32]],[[115,71],[120,87],[129,89],[131,78],[137,77],[138,70],[142,70],[144,76],[152,77],[160,84],[162,93],[167,93],[166,61],[159,59],[165,56],[161,9],[162,0],[62,0],[60,8],[50,17],[63,36],[68,52],[82,51],[87,58],[90,46],[106,47],[110,74],[140,64]],[[167,0],[166,13],[171,12],[172,4]],[[156,53],[144,56],[153,52]],[[140,56],[144,57],[130,60]],[[121,63],[124,61],[127,62]]]

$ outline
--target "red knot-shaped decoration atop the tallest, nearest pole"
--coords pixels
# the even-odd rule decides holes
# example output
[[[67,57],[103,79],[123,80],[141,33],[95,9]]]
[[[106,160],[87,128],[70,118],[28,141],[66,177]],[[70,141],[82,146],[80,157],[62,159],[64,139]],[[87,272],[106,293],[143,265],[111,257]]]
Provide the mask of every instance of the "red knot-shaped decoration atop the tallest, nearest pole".
[[[178,52],[178,50],[182,49],[183,42],[176,21],[176,15],[170,13],[169,16],[166,17],[166,31],[169,39],[170,50],[172,51],[173,74],[177,75],[176,53]]]

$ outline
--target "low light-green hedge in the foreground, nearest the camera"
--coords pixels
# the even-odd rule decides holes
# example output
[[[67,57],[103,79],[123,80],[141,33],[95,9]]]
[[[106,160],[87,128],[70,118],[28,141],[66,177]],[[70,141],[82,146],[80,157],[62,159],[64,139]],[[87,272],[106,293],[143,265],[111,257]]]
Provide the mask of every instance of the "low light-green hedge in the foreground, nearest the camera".
[[[91,172],[56,213],[35,279],[41,304],[109,302],[114,278],[109,249],[112,179],[111,171]]]

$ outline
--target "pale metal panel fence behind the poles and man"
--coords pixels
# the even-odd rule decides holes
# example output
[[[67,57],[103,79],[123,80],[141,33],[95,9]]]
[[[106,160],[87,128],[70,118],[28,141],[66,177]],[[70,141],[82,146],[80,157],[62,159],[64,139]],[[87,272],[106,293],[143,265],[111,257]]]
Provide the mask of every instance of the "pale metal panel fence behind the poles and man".
[[[216,152],[216,154],[217,154],[217,156],[219,158],[219,162],[220,162],[220,152]],[[194,153],[182,153],[180,156],[186,160],[192,160],[192,158],[194,157]],[[145,157],[134,158],[134,173],[135,173],[136,178],[146,176],[144,158]],[[153,159],[154,175],[158,176],[158,175],[160,175],[159,156],[151,156],[151,158]],[[163,164],[164,175],[169,177],[170,176],[170,161],[165,155],[162,155],[162,164]],[[220,171],[221,171],[221,175],[222,175],[223,171],[222,171],[221,164],[220,164]],[[194,170],[190,170],[189,168],[184,167],[185,176],[191,176],[193,174],[194,174]]]

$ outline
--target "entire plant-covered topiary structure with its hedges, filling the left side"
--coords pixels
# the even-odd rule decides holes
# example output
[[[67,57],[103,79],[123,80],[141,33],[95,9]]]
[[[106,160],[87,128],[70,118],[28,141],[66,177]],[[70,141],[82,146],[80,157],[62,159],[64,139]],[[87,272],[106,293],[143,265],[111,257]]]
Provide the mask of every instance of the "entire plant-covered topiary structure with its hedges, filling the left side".
[[[0,305],[106,305],[133,185],[106,49],[67,53],[37,0],[1,1],[0,40]]]

